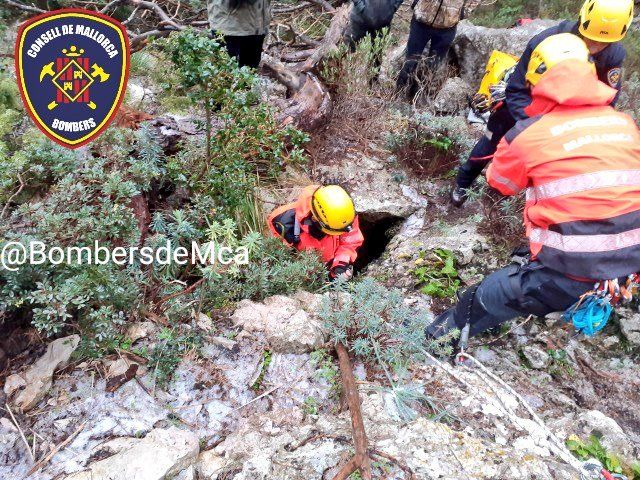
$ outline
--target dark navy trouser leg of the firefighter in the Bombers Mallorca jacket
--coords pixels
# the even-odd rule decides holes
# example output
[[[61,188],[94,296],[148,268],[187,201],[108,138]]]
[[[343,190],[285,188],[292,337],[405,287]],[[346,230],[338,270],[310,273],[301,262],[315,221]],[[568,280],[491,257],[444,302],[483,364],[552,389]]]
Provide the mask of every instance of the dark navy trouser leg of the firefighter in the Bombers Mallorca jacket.
[[[510,265],[464,292],[432,325],[438,320],[448,322],[440,322],[438,330],[427,327],[427,332],[439,337],[452,328],[464,328],[468,322],[470,335],[477,335],[519,316],[542,317],[566,310],[592,287],[591,281],[573,280],[537,261]]]

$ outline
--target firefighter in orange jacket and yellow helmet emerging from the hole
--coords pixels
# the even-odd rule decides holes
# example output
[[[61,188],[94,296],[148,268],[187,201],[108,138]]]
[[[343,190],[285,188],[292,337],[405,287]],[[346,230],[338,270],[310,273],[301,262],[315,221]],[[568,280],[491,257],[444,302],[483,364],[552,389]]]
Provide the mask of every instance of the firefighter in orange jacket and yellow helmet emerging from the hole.
[[[338,185],[311,185],[298,200],[275,209],[269,229],[298,250],[318,250],[332,279],[349,280],[364,242],[353,200]]]

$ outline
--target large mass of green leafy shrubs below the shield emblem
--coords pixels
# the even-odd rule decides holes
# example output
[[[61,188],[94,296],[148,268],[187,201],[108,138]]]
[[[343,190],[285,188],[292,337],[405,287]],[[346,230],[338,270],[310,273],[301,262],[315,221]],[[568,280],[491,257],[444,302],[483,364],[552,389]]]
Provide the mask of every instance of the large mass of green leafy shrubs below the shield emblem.
[[[303,163],[305,135],[281,128],[273,112],[256,103],[255,75],[239,68],[216,39],[186,31],[153,48],[174,62],[167,70],[175,76],[167,80],[179,80],[180,88],[172,95],[209,114],[205,141],[183,145],[172,156],[147,127],[111,127],[82,151],[57,147],[33,129],[17,135],[14,125],[25,117],[15,83],[0,72],[0,248],[31,240],[62,248],[98,241],[110,250],[170,242],[191,251],[192,242],[214,242],[249,252],[248,265],[146,266],[138,258],[127,266],[87,266],[83,257],[83,265],[0,270],[0,320],[26,316],[47,335],[79,332],[85,354],[121,348],[124,323],[146,312],[175,324],[190,319],[194,305],[214,309],[242,298],[313,291],[326,276],[315,255],[299,255],[260,233],[265,219],[255,194],[258,179],[267,182],[285,165]],[[167,202],[177,189],[185,195]],[[148,231],[144,225],[141,231],[144,217],[133,199],[150,208]],[[248,221],[234,221],[246,214]],[[175,364],[165,360],[184,350],[180,338],[167,334],[163,348],[170,355],[150,353],[161,358],[164,377]]]

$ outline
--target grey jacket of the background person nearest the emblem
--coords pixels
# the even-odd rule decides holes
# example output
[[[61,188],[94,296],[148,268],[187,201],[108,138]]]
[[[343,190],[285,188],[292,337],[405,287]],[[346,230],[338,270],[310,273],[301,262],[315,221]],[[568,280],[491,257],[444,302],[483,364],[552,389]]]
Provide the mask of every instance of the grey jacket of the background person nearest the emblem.
[[[212,30],[239,37],[269,33],[271,0],[244,0],[235,8],[231,7],[230,1],[207,0]]]

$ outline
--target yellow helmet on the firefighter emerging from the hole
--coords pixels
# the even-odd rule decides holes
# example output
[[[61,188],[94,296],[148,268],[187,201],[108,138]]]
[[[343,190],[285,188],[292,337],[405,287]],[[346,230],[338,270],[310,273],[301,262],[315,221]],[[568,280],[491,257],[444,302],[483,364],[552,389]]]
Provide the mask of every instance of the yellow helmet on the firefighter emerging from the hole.
[[[319,187],[311,197],[311,214],[328,235],[351,231],[356,207],[344,188],[338,185]]]

